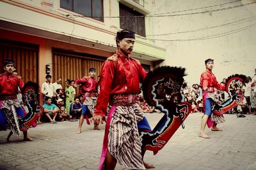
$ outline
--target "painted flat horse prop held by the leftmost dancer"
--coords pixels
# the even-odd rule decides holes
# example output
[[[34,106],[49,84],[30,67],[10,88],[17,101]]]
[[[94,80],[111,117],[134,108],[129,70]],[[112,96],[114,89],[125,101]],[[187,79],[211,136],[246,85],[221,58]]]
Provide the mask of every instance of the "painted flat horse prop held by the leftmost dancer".
[[[38,105],[38,89],[38,84],[32,81],[28,81],[22,89],[23,100],[26,106],[28,106],[29,112],[20,120],[20,131],[27,131],[44,112],[44,108]]]

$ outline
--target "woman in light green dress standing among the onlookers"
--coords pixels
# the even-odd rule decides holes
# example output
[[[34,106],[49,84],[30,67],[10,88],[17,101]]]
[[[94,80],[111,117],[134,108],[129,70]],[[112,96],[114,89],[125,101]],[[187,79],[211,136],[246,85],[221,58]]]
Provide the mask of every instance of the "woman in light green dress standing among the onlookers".
[[[68,79],[65,81],[65,94],[66,94],[66,110],[67,110],[67,115],[69,115],[70,111],[70,104],[74,102],[74,92],[75,89],[72,87],[71,81]]]

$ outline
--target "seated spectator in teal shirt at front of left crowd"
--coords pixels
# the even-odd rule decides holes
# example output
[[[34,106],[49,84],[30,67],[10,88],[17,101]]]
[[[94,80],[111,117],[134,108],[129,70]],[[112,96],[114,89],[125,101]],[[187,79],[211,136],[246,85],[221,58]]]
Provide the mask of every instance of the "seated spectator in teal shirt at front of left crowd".
[[[58,111],[60,110],[55,104],[52,104],[51,97],[45,97],[45,104],[43,105],[44,113],[47,118],[49,118],[51,124],[56,124],[55,118],[58,115]],[[53,117],[53,118],[51,118]]]

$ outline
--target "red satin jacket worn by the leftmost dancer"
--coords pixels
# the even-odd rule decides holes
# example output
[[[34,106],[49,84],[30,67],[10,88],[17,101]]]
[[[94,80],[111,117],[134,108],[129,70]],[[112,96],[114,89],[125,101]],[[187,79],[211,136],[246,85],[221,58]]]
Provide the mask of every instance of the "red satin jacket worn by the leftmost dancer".
[[[0,97],[17,95],[18,87],[20,89],[24,87],[24,82],[21,78],[8,73],[0,75]]]

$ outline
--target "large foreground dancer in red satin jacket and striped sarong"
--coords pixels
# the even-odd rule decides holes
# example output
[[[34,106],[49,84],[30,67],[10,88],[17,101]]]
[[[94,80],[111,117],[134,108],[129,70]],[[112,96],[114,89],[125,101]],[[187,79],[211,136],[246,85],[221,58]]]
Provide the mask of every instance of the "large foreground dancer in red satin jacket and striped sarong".
[[[99,96],[93,120],[105,120],[108,103],[108,120],[99,169],[115,169],[116,161],[130,169],[144,169],[151,166],[143,162],[141,141],[137,122],[143,120],[143,110],[137,103],[139,83],[147,75],[138,60],[130,53],[135,42],[134,33],[123,30],[116,34],[118,50],[102,65],[99,82]]]

